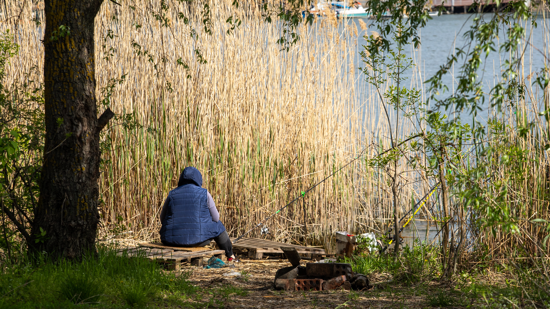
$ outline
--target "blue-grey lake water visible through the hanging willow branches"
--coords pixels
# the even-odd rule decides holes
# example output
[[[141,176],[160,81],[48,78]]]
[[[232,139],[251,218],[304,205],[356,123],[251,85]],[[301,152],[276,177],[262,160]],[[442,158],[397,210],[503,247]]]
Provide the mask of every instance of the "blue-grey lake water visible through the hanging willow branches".
[[[483,18],[489,20],[492,17],[492,14],[484,14]],[[439,70],[439,67],[447,62],[447,57],[452,56],[455,48],[464,47],[466,40],[463,35],[466,31],[470,29],[472,21],[475,18],[475,14],[443,14],[441,16],[433,16],[432,20],[428,20],[425,27],[420,29],[420,38],[421,46],[414,49],[412,45],[405,47],[406,54],[411,57],[416,64],[414,69],[409,71],[409,80],[405,82],[406,85],[418,85],[419,89],[427,89],[427,85],[422,84],[423,81],[428,80],[433,76],[434,73]],[[376,22],[372,19],[363,19],[368,25],[368,31],[378,31],[376,27]],[[548,37],[546,40],[544,36],[548,34],[543,34],[542,23],[548,23],[548,20],[542,19],[542,16],[537,16],[538,27],[532,27],[530,21],[522,21],[524,27],[527,28],[526,37],[529,37],[530,45],[525,48],[525,61],[524,67],[522,70],[524,76],[529,75],[532,71],[538,71],[540,68],[544,68],[544,56],[537,51],[547,52],[548,47]],[[356,23],[359,28],[359,19],[349,19],[348,24]],[[547,28],[548,29],[548,28]],[[504,37],[505,33],[501,30],[499,37]],[[363,37],[359,37],[358,45],[359,51],[363,50],[362,45],[366,45],[366,40]],[[489,53],[486,59],[483,59],[482,70],[480,71],[481,79],[484,84],[483,90],[488,93],[491,87],[493,87],[496,82],[500,80],[500,67],[504,65],[504,60],[507,59],[509,55],[507,53],[491,52]],[[464,63],[464,59],[459,59],[458,63],[461,65]],[[548,64],[548,62],[547,62]],[[357,62],[356,67],[362,67],[364,64],[360,61]],[[456,80],[454,76],[459,75],[459,65],[456,65],[454,69],[450,72],[452,74],[447,74],[444,76],[443,81],[448,86],[449,91],[454,91],[456,88]],[[362,72],[356,70],[356,78],[358,82],[363,82],[364,79]],[[531,80],[531,82],[534,79]],[[407,84],[408,83],[408,84]],[[529,81],[526,81],[526,84],[529,84]],[[358,87],[361,89],[361,87]],[[372,93],[367,93],[365,91],[358,91],[359,101],[366,100],[370,97]],[[448,93],[445,93],[442,97],[447,97]],[[483,111],[479,112],[477,120],[485,123],[487,119],[487,109],[488,109],[488,96],[486,95],[486,104],[483,107]],[[372,108],[372,106],[370,107]],[[363,111],[365,115],[365,110]],[[449,118],[453,117],[453,111],[449,111]],[[471,123],[471,115],[469,111],[456,112],[454,115],[460,115],[460,118],[463,122]]]

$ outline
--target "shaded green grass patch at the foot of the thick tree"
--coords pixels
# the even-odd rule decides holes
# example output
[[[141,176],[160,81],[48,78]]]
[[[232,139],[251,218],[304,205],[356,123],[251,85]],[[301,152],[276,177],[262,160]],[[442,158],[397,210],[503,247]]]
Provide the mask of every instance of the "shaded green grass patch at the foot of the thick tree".
[[[38,260],[6,267],[0,273],[0,306],[117,308],[156,304],[164,295],[185,300],[199,291],[188,278],[189,273],[175,275],[149,259],[117,256],[100,247],[97,256],[81,262]]]

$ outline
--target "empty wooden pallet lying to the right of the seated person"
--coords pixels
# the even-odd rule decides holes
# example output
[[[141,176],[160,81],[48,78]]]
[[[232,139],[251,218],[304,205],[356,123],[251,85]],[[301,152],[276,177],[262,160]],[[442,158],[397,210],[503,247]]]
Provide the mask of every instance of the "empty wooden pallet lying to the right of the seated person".
[[[234,241],[237,238],[229,238],[231,241]],[[301,255],[311,255],[311,258],[318,258],[323,255],[326,255],[326,250],[319,248],[311,248],[298,245],[289,245],[284,244],[284,242],[278,242],[267,239],[260,238],[241,238],[239,241],[233,244],[235,249],[246,249],[248,250],[248,257],[259,260],[263,257],[264,253],[283,253],[281,247],[292,247],[296,248],[296,251]]]

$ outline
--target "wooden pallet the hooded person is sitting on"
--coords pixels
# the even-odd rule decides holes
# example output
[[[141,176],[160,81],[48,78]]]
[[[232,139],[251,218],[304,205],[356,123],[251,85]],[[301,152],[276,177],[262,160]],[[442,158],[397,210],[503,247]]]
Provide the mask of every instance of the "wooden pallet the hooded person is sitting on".
[[[164,246],[160,242],[144,242],[139,246],[122,247],[119,255],[126,253],[130,257],[147,257],[153,261],[167,264],[168,269],[178,271],[182,261],[190,260],[191,265],[202,266],[205,256],[221,256],[223,250],[210,250],[204,247],[184,248]]]

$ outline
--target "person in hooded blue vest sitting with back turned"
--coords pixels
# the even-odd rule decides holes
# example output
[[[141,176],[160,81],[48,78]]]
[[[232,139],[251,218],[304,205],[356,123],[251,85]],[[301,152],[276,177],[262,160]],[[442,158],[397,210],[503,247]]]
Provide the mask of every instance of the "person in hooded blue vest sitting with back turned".
[[[226,251],[228,262],[240,262],[233,255],[233,246],[226,227],[219,220],[212,195],[202,187],[202,175],[194,167],[186,167],[179,176],[178,187],[168,193],[160,219],[161,241],[167,246],[204,247],[212,240]]]

